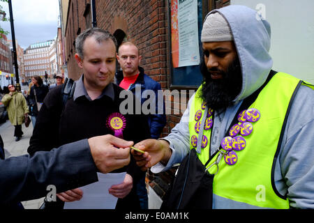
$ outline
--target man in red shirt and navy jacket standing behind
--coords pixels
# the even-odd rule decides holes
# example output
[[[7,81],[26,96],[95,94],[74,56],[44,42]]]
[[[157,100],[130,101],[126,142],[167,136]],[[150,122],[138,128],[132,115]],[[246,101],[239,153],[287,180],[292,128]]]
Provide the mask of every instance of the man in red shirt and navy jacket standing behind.
[[[166,124],[163,98],[160,98],[160,102],[162,103],[158,103],[158,91],[161,91],[160,84],[144,74],[144,69],[139,66],[142,56],[133,43],[122,43],[118,50],[117,59],[121,66],[121,70],[116,74],[117,84],[123,89],[132,91],[136,97],[140,98],[141,105],[148,100],[154,103],[154,105],[152,105],[155,107],[153,111],[151,111],[151,107],[147,108],[147,110],[149,109],[149,111],[151,111],[148,114],[148,121],[151,138],[158,139]],[[147,95],[149,95],[149,97],[147,97]],[[159,110],[163,111],[163,114],[158,114],[158,107],[160,106],[162,106],[162,108]],[[145,108],[142,107],[142,109]],[[142,180],[140,180],[140,183],[137,185],[137,194],[139,194],[142,208],[147,209],[148,197],[144,174]]]

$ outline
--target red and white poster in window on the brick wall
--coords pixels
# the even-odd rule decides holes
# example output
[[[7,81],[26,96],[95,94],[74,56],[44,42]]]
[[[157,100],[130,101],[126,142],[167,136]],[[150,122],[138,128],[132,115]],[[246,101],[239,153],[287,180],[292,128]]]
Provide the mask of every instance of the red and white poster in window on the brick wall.
[[[171,1],[171,41],[174,68],[200,63],[197,0]]]

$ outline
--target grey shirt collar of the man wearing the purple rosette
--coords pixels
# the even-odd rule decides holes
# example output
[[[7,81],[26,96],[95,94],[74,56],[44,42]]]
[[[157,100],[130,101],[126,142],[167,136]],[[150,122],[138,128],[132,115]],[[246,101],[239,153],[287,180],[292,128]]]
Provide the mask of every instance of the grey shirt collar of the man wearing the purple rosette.
[[[88,100],[91,100],[91,98],[89,97],[89,95],[85,89],[83,79],[84,79],[84,75],[82,75],[80,77],[80,79],[75,81],[73,100],[76,100],[77,98],[80,98],[82,96],[85,96],[85,98],[87,98]],[[106,95],[109,98],[111,98],[112,100],[114,100],[114,89],[113,89],[112,83],[108,84],[105,87],[105,89],[103,89],[103,93],[101,93],[101,95],[97,99],[103,98],[104,95]]]

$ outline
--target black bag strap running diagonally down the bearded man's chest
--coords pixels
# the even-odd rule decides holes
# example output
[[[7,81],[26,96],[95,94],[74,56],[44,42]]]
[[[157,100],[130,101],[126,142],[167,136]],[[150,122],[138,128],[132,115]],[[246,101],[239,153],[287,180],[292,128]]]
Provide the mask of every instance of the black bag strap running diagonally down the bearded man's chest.
[[[260,94],[262,89],[264,89],[264,87],[268,84],[268,82],[271,80],[271,78],[274,77],[274,75],[276,75],[276,73],[277,73],[277,71],[271,70],[269,72],[269,75],[268,75],[266,81],[264,82],[264,84],[262,86],[260,86],[260,88],[257,89],[254,93],[252,93],[251,95],[249,95],[247,98],[245,98],[243,100],[243,102],[242,102],[241,106],[239,107],[238,111],[234,114],[234,118],[233,118],[232,122],[230,123],[227,132],[225,133],[225,137],[228,136],[228,133],[229,133],[230,129],[232,128],[232,126],[238,122],[237,114],[239,114],[239,112],[243,111],[244,109],[248,109],[248,107],[250,105],[252,105],[252,103],[256,100],[257,96]],[[214,116],[214,114],[213,114],[213,116]],[[218,151],[220,149],[222,149],[221,145],[219,146],[219,149],[213,155],[209,155],[209,160],[207,160],[206,164],[204,165],[205,167],[207,166],[207,164],[209,164],[211,159],[216,155],[216,153],[218,153]]]

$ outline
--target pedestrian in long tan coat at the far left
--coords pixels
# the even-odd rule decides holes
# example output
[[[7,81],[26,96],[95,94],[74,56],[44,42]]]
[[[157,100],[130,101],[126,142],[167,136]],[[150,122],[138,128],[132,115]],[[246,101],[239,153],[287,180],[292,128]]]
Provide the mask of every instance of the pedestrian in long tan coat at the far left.
[[[23,134],[22,123],[24,123],[24,119],[28,116],[29,108],[27,107],[24,95],[17,92],[13,84],[8,85],[8,90],[10,93],[4,95],[1,101],[8,109],[10,123],[15,127],[15,141],[20,141]]]

